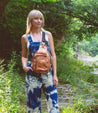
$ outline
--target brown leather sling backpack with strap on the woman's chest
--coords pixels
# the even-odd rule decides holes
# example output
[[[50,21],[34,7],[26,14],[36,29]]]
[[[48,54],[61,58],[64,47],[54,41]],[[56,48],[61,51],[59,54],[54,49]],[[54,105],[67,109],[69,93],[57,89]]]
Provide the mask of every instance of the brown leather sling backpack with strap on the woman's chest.
[[[51,55],[47,50],[47,46],[43,42],[45,40],[45,33],[42,34],[42,44],[39,46],[39,49],[34,53],[32,58],[32,68],[36,73],[47,73],[51,67]]]

